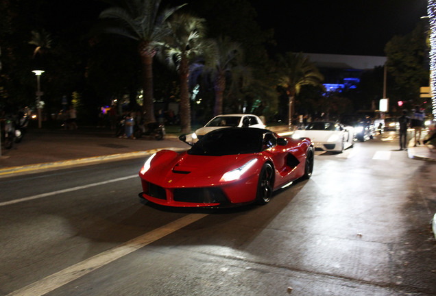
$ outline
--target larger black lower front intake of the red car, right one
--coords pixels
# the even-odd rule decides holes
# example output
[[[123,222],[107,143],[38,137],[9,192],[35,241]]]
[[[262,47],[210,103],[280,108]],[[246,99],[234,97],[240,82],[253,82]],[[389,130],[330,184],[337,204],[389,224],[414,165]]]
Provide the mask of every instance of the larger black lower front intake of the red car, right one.
[[[228,199],[221,188],[179,188],[174,190],[174,201],[197,204],[226,204]]]

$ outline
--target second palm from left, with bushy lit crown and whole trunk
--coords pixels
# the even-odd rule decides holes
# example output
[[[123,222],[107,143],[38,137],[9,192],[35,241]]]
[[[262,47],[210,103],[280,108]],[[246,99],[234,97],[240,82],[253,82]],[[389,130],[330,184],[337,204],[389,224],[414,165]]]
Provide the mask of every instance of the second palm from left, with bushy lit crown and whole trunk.
[[[175,66],[180,77],[180,127],[183,134],[191,132],[189,102],[189,64],[202,53],[205,34],[204,18],[174,14],[168,23],[171,34],[165,43],[167,64]]]

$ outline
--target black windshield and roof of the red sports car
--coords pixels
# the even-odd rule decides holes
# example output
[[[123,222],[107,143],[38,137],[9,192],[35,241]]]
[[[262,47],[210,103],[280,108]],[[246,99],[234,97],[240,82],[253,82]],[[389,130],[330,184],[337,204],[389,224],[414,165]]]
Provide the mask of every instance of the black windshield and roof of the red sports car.
[[[209,132],[193,145],[188,153],[202,156],[225,156],[262,151],[267,130],[257,128],[224,128]]]

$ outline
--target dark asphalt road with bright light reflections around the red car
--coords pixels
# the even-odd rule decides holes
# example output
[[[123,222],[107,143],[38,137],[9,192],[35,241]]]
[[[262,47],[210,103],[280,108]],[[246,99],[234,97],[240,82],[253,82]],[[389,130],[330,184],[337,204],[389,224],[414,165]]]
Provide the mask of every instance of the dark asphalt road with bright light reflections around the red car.
[[[141,158],[4,177],[0,295],[436,295],[436,164],[397,142],[228,210],[141,204]]]

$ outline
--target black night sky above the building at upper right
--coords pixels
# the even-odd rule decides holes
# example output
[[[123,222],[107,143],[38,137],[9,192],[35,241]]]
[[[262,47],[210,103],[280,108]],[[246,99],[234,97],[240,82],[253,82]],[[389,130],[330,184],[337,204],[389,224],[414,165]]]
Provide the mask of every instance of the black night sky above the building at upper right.
[[[386,43],[413,31],[426,0],[250,1],[278,51],[385,56]]]

